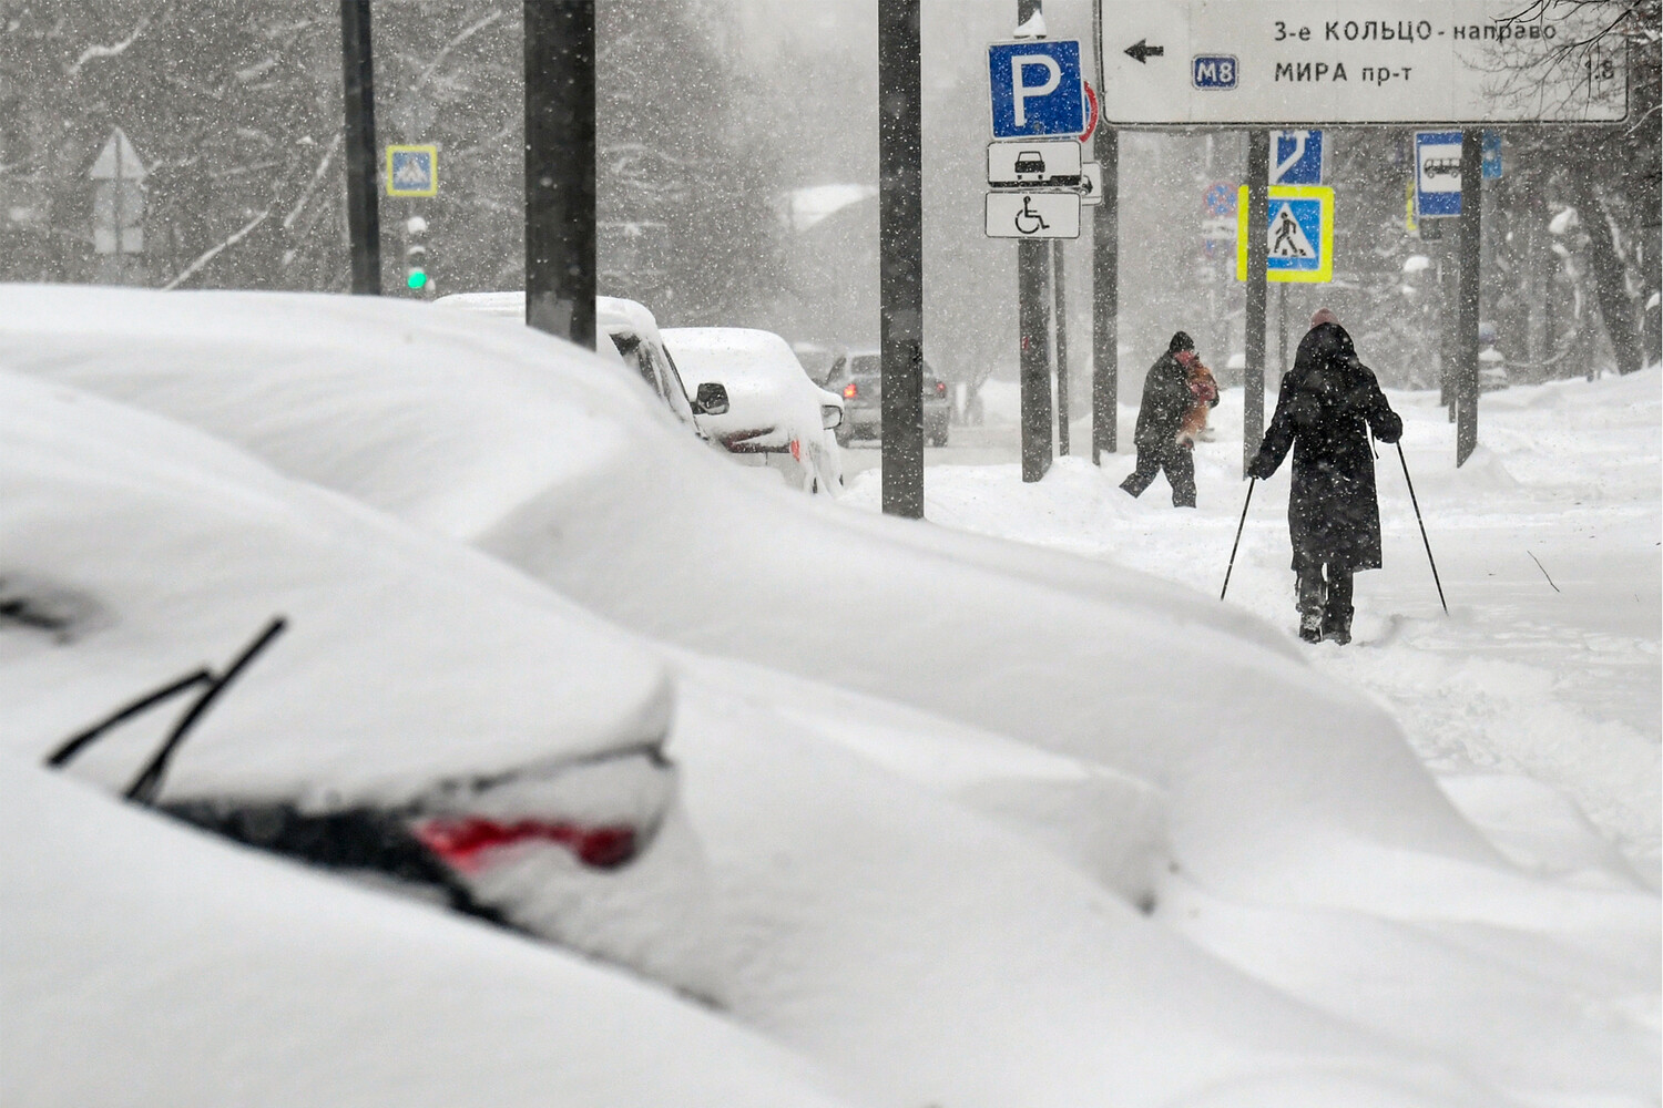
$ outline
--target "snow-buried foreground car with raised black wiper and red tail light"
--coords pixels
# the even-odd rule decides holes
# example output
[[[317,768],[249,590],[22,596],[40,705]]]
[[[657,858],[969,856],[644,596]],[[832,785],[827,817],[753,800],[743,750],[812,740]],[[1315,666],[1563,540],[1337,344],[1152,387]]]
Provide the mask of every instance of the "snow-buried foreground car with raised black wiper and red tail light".
[[[12,756],[707,985],[650,651],[195,429],[8,372],[0,405]]]

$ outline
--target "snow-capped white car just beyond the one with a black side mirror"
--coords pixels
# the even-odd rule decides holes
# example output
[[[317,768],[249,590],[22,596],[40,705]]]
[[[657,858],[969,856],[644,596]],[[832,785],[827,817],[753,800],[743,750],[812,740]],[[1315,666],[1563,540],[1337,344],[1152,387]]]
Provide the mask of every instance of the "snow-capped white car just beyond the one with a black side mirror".
[[[665,327],[664,342],[688,384],[725,392],[728,410],[703,422],[730,453],[778,467],[805,492],[843,487],[843,400],[808,379],[785,339],[750,327]]]

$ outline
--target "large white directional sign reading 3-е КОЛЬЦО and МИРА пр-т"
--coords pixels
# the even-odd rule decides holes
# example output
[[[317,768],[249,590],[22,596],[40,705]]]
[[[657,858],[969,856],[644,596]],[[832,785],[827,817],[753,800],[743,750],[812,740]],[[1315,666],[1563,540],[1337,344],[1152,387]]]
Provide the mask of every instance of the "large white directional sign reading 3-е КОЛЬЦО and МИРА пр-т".
[[[1103,121],[1613,123],[1628,53],[1608,7],[1103,0]]]

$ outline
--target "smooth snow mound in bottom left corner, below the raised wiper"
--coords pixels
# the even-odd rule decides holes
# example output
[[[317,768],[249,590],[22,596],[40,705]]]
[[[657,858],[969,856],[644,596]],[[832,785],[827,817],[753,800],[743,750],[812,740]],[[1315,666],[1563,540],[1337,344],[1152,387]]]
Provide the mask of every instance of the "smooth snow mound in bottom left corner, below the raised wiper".
[[[0,1103],[835,1108],[810,1065],[567,950],[0,754]]]

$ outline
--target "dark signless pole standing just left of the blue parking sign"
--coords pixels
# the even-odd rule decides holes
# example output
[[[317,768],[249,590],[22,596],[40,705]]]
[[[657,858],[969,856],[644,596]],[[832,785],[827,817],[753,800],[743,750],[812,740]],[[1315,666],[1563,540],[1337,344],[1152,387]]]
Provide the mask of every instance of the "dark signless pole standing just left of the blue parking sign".
[[[878,5],[878,331],[883,512],[925,515],[925,223],[920,0]]]

